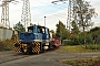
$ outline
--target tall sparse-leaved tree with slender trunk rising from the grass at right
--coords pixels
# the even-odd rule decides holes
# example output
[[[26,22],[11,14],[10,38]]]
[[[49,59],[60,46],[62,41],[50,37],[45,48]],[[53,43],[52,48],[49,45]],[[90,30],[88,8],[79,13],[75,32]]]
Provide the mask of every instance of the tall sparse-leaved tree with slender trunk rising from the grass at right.
[[[89,26],[92,26],[91,18],[96,16],[97,13],[94,11],[94,8],[90,6],[88,1],[84,0],[76,0],[76,7],[73,7],[73,13],[77,14],[77,18],[73,18],[73,21],[77,21],[79,28],[82,28],[83,30],[83,43],[86,44],[86,30]],[[76,25],[74,22],[72,22],[72,26]],[[72,30],[74,32],[74,29]],[[86,45],[87,46],[87,45]]]

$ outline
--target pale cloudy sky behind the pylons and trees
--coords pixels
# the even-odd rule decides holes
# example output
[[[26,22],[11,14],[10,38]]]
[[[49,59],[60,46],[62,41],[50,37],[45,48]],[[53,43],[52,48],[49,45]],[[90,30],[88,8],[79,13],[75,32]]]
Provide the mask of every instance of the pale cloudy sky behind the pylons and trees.
[[[9,21],[10,26],[17,24],[21,21],[22,14],[22,0],[17,0],[19,3],[10,3],[9,4]],[[56,24],[60,21],[63,24],[67,24],[67,14],[68,14],[68,1],[66,3],[58,2],[57,4],[51,3],[57,0],[30,0],[30,12],[31,12],[31,23],[44,25],[44,16],[46,16],[46,26],[50,30],[56,30]],[[100,23],[100,0],[87,0],[90,4],[96,9],[98,13],[97,18],[92,19],[94,22],[93,26],[99,26]],[[0,8],[0,14],[2,9]],[[0,18],[1,19],[1,18]]]

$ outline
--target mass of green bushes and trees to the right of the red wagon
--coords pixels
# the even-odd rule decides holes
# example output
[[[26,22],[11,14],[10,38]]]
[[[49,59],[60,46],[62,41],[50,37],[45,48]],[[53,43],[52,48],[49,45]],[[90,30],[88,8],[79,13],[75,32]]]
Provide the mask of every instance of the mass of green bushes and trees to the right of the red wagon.
[[[93,26],[91,19],[92,16],[97,16],[97,13],[90,2],[76,0],[76,7],[73,8],[72,13],[74,13],[74,15],[69,22],[70,25],[67,23],[66,28],[61,21],[59,21],[59,23],[56,25],[56,36],[61,37],[61,40],[70,40],[71,45],[86,44],[87,47],[87,44],[99,44],[100,37],[96,37],[100,36],[100,29],[94,29],[96,31],[91,31],[91,28]]]

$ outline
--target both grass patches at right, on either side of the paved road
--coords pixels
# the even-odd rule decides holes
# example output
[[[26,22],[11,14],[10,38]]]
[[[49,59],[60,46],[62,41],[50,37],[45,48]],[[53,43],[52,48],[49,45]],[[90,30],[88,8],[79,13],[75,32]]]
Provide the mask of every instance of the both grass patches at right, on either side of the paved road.
[[[97,46],[97,47],[96,47]],[[100,45],[88,44],[76,46],[61,46],[57,52],[60,53],[100,53]],[[100,66],[100,57],[87,57],[76,59],[60,59],[63,64],[71,66]]]

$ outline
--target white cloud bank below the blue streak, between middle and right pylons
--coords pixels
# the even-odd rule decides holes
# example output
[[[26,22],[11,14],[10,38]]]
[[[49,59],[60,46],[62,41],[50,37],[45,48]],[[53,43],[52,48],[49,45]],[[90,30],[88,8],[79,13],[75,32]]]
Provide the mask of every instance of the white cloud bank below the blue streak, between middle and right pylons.
[[[67,22],[67,9],[60,10],[58,12],[52,12],[50,14],[46,14],[42,16],[32,18],[32,23],[44,25],[44,16],[46,16],[46,25],[51,29],[56,30],[56,24],[60,21],[62,21],[64,24]]]

